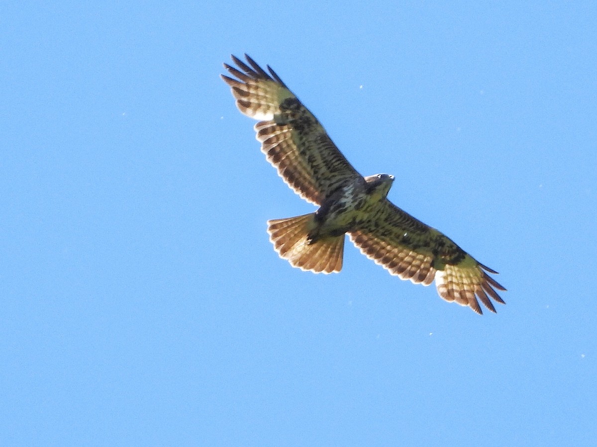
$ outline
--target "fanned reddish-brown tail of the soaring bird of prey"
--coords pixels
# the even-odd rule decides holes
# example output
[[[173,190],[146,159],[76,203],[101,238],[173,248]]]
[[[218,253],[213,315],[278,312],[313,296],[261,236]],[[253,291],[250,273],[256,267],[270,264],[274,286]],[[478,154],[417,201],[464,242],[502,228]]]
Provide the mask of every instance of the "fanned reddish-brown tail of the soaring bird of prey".
[[[315,214],[267,222],[276,252],[293,267],[315,273],[339,272],[342,269],[344,235],[309,243],[309,231],[315,228]]]

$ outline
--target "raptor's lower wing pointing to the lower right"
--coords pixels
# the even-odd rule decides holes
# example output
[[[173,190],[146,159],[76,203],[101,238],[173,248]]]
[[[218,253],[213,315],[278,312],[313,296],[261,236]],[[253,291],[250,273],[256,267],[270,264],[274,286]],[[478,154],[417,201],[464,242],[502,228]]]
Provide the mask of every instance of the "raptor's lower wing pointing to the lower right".
[[[496,312],[490,297],[504,303],[494,288],[506,290],[482,265],[450,238],[408,215],[386,200],[370,224],[350,232],[350,240],[365,256],[390,274],[415,284],[435,279],[439,296],[482,313],[477,298]]]

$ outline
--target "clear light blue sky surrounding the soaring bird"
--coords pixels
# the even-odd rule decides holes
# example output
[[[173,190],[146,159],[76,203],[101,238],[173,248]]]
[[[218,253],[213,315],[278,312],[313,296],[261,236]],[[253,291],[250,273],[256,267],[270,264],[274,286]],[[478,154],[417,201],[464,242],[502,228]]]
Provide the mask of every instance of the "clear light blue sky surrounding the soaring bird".
[[[3,2],[5,445],[595,445],[597,6]],[[346,247],[219,79],[270,64],[356,169],[500,272],[497,315]]]

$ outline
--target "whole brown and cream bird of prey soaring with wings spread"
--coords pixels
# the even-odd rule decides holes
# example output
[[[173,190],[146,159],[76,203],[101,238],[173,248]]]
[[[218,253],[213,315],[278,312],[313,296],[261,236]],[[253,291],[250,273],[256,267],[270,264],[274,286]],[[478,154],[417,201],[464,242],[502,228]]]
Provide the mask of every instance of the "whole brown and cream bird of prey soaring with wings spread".
[[[267,222],[276,252],[294,267],[339,272],[344,234],[365,256],[390,274],[414,284],[435,280],[439,296],[482,313],[477,299],[496,312],[506,290],[488,275],[497,274],[464,252],[450,238],[399,209],[386,196],[393,175],[363,177],[344,158],[316,117],[282,79],[245,54],[232,55],[221,75],[236,106],[259,120],[257,140],[267,160],[290,188],[319,206],[314,213]],[[236,79],[235,79],[236,78]],[[491,299],[490,299],[491,298]]]

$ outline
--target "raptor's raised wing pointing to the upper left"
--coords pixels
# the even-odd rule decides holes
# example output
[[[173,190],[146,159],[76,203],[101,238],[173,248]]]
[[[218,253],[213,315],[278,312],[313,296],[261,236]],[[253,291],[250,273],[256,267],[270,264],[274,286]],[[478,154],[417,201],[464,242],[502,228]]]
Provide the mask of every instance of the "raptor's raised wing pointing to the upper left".
[[[323,126],[269,67],[269,73],[248,57],[248,65],[232,56],[238,67],[224,64],[238,79],[221,75],[255,125],[261,151],[293,190],[315,204],[359,175],[338,150]]]

